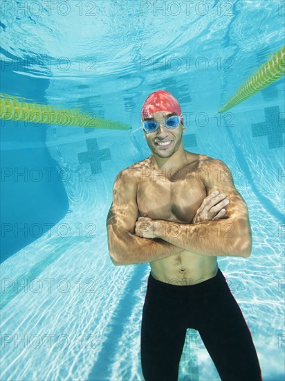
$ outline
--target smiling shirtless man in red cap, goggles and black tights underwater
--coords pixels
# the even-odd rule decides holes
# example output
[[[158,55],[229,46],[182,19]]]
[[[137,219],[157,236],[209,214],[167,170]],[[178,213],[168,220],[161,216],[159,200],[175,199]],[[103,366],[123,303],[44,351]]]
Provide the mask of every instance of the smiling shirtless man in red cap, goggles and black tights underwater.
[[[144,378],[177,380],[186,330],[194,328],[222,381],[260,381],[250,330],[217,264],[217,256],[250,256],[246,203],[223,161],[184,150],[172,94],[150,94],[141,118],[151,155],[116,177],[107,231],[114,265],[151,267],[141,325]]]

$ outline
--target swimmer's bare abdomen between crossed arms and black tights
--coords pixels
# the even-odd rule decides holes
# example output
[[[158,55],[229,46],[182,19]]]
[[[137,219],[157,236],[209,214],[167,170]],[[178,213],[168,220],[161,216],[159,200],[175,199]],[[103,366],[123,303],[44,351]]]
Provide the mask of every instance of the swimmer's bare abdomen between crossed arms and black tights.
[[[149,265],[154,278],[172,285],[201,283],[215,276],[218,271],[216,256],[199,256],[186,250],[154,260]]]

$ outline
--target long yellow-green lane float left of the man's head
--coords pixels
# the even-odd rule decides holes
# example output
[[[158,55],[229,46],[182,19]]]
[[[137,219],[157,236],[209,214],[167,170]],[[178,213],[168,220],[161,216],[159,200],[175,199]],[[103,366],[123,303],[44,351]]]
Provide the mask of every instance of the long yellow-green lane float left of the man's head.
[[[6,94],[5,94],[6,95]],[[129,125],[96,118],[80,109],[57,109],[37,103],[19,102],[14,97],[0,94],[0,118],[9,121],[73,125],[77,127],[105,128],[107,130],[130,130]]]

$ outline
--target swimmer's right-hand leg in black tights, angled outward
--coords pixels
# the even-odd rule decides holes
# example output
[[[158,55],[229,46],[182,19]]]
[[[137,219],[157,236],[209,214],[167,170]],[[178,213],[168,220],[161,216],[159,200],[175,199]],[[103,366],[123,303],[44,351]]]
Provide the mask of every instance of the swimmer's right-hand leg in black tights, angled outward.
[[[206,301],[205,301],[206,300]],[[199,333],[222,381],[261,381],[250,330],[227,283],[204,296]]]

